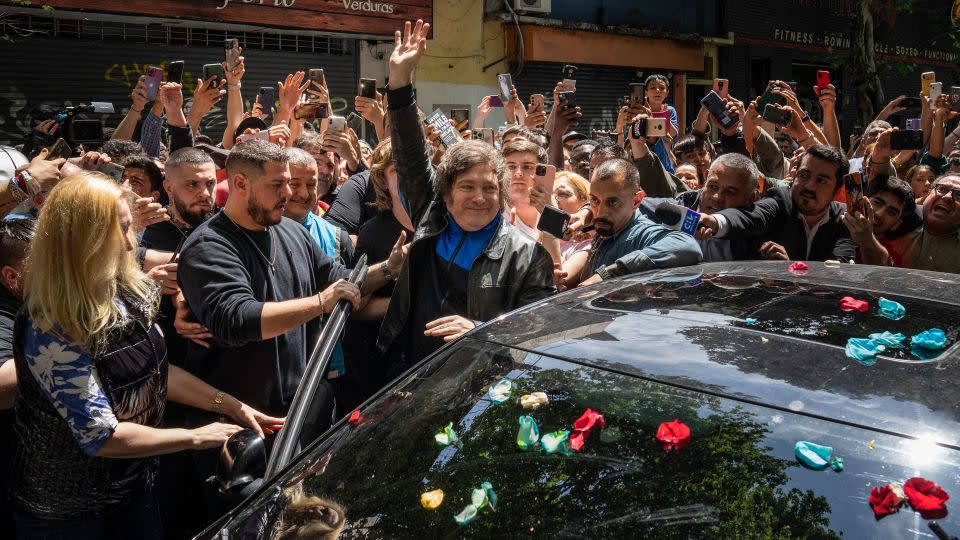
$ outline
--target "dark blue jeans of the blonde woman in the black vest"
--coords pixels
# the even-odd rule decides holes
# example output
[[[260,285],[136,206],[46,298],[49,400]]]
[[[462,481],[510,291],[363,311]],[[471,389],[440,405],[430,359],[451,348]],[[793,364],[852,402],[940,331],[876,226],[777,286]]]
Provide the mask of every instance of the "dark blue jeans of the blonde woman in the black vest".
[[[162,540],[160,512],[152,493],[131,495],[110,513],[93,518],[49,519],[15,512],[18,540]]]

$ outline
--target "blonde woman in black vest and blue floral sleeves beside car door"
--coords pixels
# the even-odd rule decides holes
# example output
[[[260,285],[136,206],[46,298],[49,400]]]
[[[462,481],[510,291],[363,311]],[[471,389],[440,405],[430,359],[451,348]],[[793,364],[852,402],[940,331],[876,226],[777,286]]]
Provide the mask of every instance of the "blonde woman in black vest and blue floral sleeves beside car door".
[[[132,197],[79,174],[37,222],[13,344],[20,538],[161,538],[152,456],[214,448],[241,429],[160,429],[168,398],[260,433],[283,422],[167,363],[158,290],[133,256]]]

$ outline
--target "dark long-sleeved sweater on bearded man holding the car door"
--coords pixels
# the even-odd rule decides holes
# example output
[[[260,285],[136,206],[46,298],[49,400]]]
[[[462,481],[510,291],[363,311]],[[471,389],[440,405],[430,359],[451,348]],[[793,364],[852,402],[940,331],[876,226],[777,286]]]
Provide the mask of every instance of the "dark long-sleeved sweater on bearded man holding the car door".
[[[273,269],[265,259],[274,262]],[[263,340],[263,304],[317,294],[347,278],[347,268],[324,254],[293,220],[247,231],[221,211],[187,239],[178,270],[194,317],[215,336],[209,350],[191,345],[187,369],[255,409],[285,415],[320,319]]]

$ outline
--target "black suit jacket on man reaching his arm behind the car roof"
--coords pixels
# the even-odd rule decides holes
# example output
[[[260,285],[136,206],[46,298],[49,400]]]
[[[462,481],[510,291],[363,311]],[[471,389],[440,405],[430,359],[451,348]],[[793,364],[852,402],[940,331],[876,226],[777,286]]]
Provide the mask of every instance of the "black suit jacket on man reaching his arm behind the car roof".
[[[807,232],[802,217],[789,188],[767,190],[762,199],[747,209],[728,208],[721,210],[729,223],[724,238],[756,238],[762,241],[772,240],[782,245],[791,260],[825,261],[836,259],[847,262],[856,254],[856,244],[850,238],[850,231],[840,221],[846,212],[846,205],[833,201],[830,203],[826,223],[817,229],[810,254],[807,255]]]

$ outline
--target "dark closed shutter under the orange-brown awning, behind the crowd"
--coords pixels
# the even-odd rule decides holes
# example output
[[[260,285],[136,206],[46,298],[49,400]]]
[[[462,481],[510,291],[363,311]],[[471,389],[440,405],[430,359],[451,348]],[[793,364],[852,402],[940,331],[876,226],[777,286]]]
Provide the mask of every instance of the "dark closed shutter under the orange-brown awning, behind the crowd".
[[[516,72],[517,66],[511,67]],[[573,129],[586,135],[590,135],[594,129],[613,130],[623,98],[630,93],[630,83],[643,82],[643,77],[653,73],[650,70],[610,66],[577,67],[576,99],[583,117],[580,125]],[[529,102],[530,94],[543,94],[549,112],[553,88],[562,78],[563,64],[527,62],[520,76],[514,78],[514,85],[525,103]],[[668,99],[668,102],[672,100]]]

